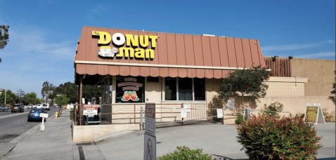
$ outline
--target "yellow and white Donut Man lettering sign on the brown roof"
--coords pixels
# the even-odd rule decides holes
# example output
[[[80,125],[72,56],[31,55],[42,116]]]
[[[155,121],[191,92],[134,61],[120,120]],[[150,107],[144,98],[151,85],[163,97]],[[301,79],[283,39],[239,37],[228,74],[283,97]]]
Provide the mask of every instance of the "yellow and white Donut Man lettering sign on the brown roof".
[[[157,37],[151,35],[133,35],[133,34],[121,34],[115,33],[112,36],[108,32],[101,31],[92,31],[93,36],[99,36],[98,45],[101,45],[100,50],[98,51],[98,55],[102,57],[125,57],[125,58],[154,58],[154,50],[151,48],[155,48]],[[123,46],[126,43],[126,47],[111,48],[108,46],[112,41],[115,46]],[[149,41],[151,42],[151,48],[147,48],[149,46]],[[140,47],[140,48],[133,48]],[[147,49],[145,49],[147,48]]]

